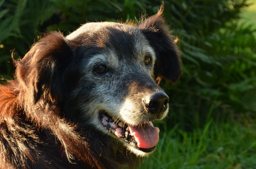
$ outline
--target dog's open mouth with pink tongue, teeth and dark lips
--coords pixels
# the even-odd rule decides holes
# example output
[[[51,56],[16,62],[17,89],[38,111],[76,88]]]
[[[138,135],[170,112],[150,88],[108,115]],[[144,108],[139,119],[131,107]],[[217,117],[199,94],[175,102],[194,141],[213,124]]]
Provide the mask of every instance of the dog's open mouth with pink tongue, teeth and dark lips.
[[[124,139],[133,148],[143,152],[155,150],[159,140],[159,129],[154,127],[152,122],[132,126],[122,122],[120,119],[109,116],[106,112],[101,112],[99,118],[106,130],[116,137]]]

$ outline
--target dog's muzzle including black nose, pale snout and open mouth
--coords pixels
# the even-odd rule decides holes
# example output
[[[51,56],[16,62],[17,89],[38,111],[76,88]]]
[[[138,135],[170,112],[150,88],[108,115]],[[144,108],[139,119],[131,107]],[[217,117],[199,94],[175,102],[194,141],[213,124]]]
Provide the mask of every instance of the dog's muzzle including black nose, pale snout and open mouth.
[[[159,140],[159,129],[154,127],[151,121],[162,119],[166,114],[169,103],[167,94],[161,90],[152,90],[139,92],[136,95],[137,97],[134,97],[135,94],[131,94],[134,99],[133,104],[136,105],[137,103],[139,107],[138,113],[140,114],[133,113],[131,116],[131,114],[126,113],[126,116],[121,116],[122,119],[119,119],[118,116],[110,116],[110,113],[102,110],[99,115],[99,119],[105,129],[113,133],[117,138],[124,139],[133,149],[142,152],[152,152],[155,150]],[[128,101],[127,103],[129,103]],[[131,107],[133,107],[132,104],[128,104],[125,108],[129,110]],[[127,111],[126,109],[124,110],[124,112]],[[129,121],[127,118],[130,118]],[[135,124],[129,123],[131,121],[135,122]]]

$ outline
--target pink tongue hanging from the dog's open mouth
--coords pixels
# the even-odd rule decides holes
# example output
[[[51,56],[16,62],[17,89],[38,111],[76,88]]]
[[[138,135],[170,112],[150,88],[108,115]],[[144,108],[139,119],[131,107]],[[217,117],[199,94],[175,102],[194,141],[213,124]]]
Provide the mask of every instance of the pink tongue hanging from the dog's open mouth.
[[[152,122],[148,122],[148,125],[132,127],[129,126],[131,136],[134,136],[135,141],[138,143],[138,147],[149,149],[154,147],[159,140],[159,128],[154,127]]]

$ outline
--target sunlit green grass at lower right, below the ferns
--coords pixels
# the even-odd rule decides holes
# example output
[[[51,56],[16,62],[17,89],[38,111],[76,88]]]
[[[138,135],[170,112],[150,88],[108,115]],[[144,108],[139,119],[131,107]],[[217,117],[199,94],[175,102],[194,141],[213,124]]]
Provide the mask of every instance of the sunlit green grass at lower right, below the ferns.
[[[156,152],[140,169],[256,169],[256,130],[249,127],[210,121],[194,132],[177,125],[160,133]]]

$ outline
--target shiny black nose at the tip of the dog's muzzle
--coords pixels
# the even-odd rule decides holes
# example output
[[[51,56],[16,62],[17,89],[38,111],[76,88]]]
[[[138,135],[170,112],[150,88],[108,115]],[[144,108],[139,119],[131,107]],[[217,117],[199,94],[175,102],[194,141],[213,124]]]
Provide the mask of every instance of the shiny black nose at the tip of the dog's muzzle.
[[[149,99],[144,100],[149,113],[161,114],[166,111],[169,103],[169,97],[164,92],[152,94]]]

